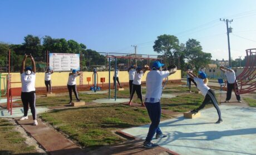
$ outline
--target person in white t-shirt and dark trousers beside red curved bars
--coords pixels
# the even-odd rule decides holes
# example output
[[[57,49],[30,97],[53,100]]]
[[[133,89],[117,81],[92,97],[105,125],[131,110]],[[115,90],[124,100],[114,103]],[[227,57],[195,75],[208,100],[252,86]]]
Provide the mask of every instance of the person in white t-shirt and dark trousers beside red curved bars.
[[[232,90],[235,91],[235,89],[238,89],[237,87],[237,81],[235,81],[236,77],[235,77],[235,71],[233,69],[231,69],[231,67],[227,68],[224,66],[220,66],[220,70],[224,72],[225,76],[227,77],[227,97],[226,97],[226,103],[229,102],[231,95],[232,95]],[[240,95],[235,94],[235,96],[237,97],[237,101],[238,102],[242,102],[241,101],[241,97]]]

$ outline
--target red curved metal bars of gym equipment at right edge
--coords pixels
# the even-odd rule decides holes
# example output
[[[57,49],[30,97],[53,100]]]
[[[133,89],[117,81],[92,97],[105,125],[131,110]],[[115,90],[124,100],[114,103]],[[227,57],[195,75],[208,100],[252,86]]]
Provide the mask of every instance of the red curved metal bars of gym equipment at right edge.
[[[235,94],[245,94],[256,91],[256,48],[246,49],[247,59],[244,71],[237,76]]]

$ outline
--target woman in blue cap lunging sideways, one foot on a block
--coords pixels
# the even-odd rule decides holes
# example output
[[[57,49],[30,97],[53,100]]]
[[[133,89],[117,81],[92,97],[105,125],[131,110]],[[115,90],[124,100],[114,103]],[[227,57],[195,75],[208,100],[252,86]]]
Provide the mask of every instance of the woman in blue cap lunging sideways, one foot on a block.
[[[214,108],[216,109],[216,111],[218,112],[218,116],[219,119],[216,123],[221,123],[222,118],[221,118],[221,112],[218,106],[218,102],[217,99],[215,97],[215,93],[213,90],[211,90],[208,86],[208,78],[206,78],[206,74],[204,72],[199,72],[199,76],[197,77],[195,74],[191,73],[191,72],[187,72],[189,74],[189,76],[191,78],[194,79],[194,81],[197,84],[198,89],[201,91],[201,93],[203,94],[203,96],[205,96],[203,103],[201,104],[200,107],[192,110],[191,112],[194,113],[198,113],[198,111],[200,111],[201,109],[203,109],[205,107],[205,105],[211,101],[211,103],[213,103]]]

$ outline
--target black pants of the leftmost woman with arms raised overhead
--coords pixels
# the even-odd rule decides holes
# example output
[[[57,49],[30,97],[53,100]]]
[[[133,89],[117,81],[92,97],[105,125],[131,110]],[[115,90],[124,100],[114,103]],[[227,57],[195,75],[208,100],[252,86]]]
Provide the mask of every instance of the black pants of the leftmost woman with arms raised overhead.
[[[36,92],[21,92],[24,116],[28,115],[28,104],[31,109],[33,120],[36,119]]]

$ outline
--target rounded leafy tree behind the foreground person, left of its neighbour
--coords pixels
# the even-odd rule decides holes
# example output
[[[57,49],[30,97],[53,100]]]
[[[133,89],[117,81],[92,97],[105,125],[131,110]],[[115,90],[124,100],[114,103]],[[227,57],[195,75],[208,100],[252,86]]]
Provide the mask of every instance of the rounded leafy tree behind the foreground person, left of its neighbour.
[[[179,51],[179,39],[176,36],[167,34],[158,36],[153,48],[155,52],[168,57],[167,62],[170,64],[173,62],[174,54]]]

